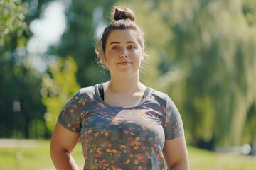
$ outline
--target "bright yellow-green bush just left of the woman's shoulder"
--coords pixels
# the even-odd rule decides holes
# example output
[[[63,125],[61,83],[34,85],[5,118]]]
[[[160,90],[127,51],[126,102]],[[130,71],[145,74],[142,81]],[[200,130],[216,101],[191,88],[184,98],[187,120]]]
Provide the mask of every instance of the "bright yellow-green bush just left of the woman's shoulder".
[[[47,108],[44,118],[50,131],[55,127],[61,108],[80,88],[76,81],[76,72],[75,60],[68,57],[59,58],[50,67],[50,74],[43,74],[41,94],[42,102]]]

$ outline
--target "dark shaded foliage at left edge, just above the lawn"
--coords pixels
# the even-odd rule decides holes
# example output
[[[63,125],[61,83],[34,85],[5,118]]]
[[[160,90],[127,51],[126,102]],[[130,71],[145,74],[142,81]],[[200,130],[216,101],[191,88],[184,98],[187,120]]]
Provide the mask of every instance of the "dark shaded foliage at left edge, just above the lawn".
[[[28,138],[32,137],[31,130],[37,132],[36,126],[31,126],[32,121],[43,120],[41,112],[44,108],[39,94],[41,80],[33,70],[12,62],[12,60],[0,62],[0,136]],[[13,110],[14,101],[21,103],[20,111]],[[45,130],[41,132],[43,134],[39,135],[40,133],[37,132],[36,136],[45,137]]]

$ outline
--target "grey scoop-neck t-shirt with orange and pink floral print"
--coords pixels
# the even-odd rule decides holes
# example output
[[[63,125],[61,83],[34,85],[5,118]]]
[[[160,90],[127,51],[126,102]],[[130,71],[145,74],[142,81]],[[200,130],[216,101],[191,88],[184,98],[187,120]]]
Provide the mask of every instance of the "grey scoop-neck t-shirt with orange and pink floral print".
[[[164,141],[184,134],[169,96],[150,89],[139,104],[114,107],[100,98],[98,86],[80,89],[58,117],[80,134],[84,169],[167,169]]]

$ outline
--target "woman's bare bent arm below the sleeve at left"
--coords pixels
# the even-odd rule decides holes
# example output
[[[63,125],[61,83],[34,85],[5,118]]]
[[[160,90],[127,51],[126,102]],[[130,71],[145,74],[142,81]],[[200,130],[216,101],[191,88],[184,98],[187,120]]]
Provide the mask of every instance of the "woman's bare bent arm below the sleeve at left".
[[[57,123],[50,142],[50,157],[56,169],[78,169],[71,156],[80,135]]]

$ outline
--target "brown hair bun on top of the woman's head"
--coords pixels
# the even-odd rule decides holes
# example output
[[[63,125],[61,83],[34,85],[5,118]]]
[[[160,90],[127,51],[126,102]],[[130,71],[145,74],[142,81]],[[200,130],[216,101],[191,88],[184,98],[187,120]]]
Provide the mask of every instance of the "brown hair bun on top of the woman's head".
[[[129,8],[114,8],[114,20],[122,20],[122,19],[130,19],[132,21],[135,20],[134,12]]]

